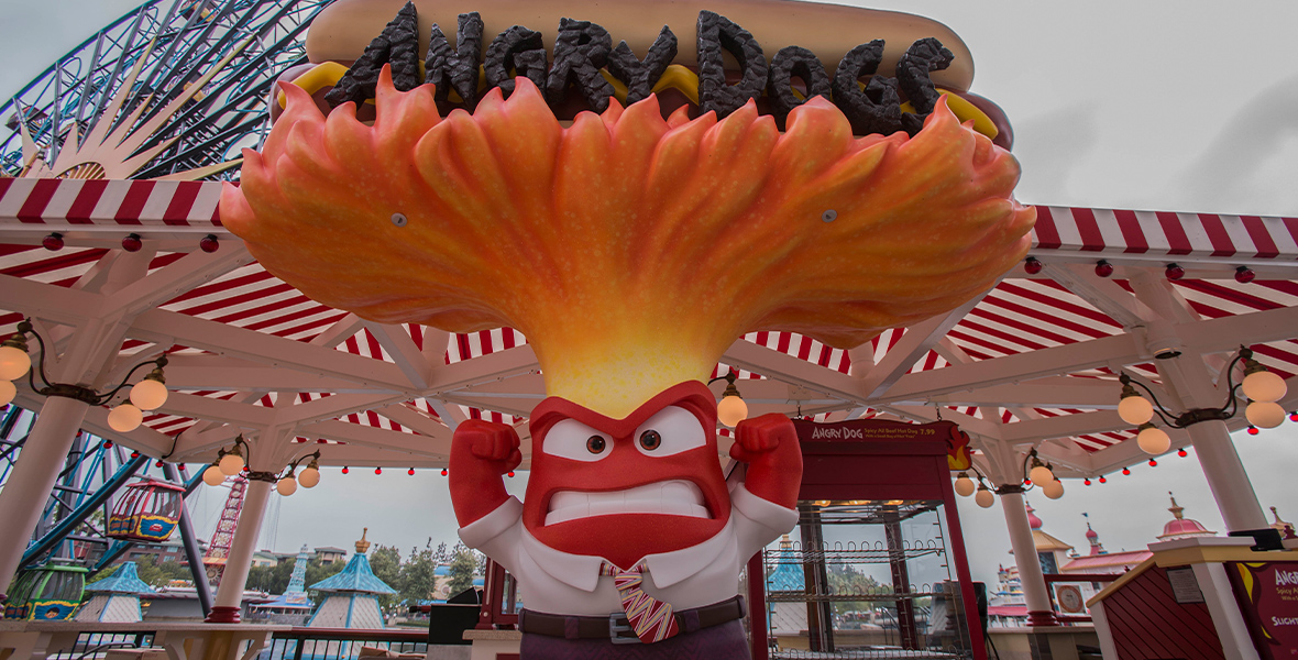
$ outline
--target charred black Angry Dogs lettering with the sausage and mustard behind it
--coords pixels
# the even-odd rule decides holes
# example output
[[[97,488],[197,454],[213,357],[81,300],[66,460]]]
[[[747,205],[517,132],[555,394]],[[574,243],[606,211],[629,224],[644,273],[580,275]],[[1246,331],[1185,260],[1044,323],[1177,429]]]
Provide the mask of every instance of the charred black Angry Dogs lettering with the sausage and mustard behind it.
[[[765,9],[761,3],[757,8]],[[336,58],[296,70],[289,79],[319,94],[324,109],[344,101],[363,104],[373,99],[379,71],[391,65],[397,90],[434,84],[436,97],[447,108],[472,109],[484,91],[500,88],[508,95],[514,88],[514,78],[526,77],[543,90],[546,103],[559,116],[571,117],[583,109],[605,112],[613,99],[628,104],[666,92],[674,104],[687,105],[694,114],[715,112],[718,117],[755,101],[762,113],[772,114],[781,125],[793,108],[811,96],[820,96],[839,107],[857,134],[903,130],[910,135],[919,133],[941,94],[953,94],[948,104],[958,117],[974,120],[976,130],[990,138],[999,136],[1002,146],[1009,148],[1009,123],[1003,113],[963,88],[971,78],[967,49],[945,26],[906,27],[919,34],[928,27],[964,56],[966,65],[944,77],[954,90],[938,90],[931,77],[959,61],[938,36],[916,39],[903,44],[905,49],[894,45],[897,53],[888,58],[890,66],[881,69],[888,43],[903,36],[896,34],[902,31],[897,25],[901,19],[890,12],[857,12],[872,14],[867,25],[889,38],[853,45],[841,55],[837,66],[827,69],[818,51],[837,52],[826,47],[826,39],[816,40],[816,49],[785,45],[767,61],[752,32],[707,9],[697,14],[694,57],[685,61],[668,25],[653,35],[641,57],[626,39],[614,48],[609,30],[600,23],[567,17],[558,19],[553,51],[548,51],[539,31],[513,25],[491,38],[478,12],[462,13],[456,17],[453,47],[440,23],[422,29],[417,5],[406,3],[382,32],[373,35],[363,52],[356,47],[350,52],[328,52],[323,57]],[[328,39],[358,45],[356,23],[334,18],[323,17],[321,22],[331,34],[313,32],[315,43]],[[770,22],[774,13],[758,12],[754,18]],[[636,27],[644,32],[646,23]],[[644,35],[632,36],[632,40],[643,42]]]

